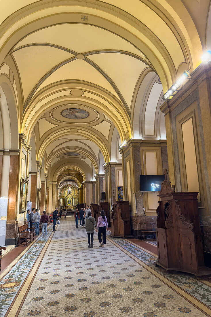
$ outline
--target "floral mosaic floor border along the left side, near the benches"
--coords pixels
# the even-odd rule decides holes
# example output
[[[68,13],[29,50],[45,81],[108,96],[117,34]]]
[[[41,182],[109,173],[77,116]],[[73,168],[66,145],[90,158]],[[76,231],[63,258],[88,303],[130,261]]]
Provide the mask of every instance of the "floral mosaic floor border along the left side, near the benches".
[[[48,226],[48,237],[41,239],[42,235],[26,251],[15,266],[0,281],[0,316],[3,317],[10,307],[17,292],[25,281],[26,276],[33,267],[37,257],[44,248],[52,232],[53,224]],[[29,245],[30,246],[30,245]],[[14,260],[15,261],[15,260]]]

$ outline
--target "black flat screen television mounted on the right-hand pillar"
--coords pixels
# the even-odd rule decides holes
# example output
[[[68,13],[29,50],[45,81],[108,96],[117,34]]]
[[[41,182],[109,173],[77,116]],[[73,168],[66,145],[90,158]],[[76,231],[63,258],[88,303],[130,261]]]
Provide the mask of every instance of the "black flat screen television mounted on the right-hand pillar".
[[[140,175],[140,191],[160,191],[165,175]]]

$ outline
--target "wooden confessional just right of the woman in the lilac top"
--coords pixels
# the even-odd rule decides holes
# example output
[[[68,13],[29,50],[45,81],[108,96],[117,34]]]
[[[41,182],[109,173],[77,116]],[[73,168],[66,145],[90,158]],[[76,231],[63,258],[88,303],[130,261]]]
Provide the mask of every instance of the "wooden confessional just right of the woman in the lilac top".
[[[114,195],[110,236],[113,238],[134,238],[131,235],[129,200],[116,201]]]

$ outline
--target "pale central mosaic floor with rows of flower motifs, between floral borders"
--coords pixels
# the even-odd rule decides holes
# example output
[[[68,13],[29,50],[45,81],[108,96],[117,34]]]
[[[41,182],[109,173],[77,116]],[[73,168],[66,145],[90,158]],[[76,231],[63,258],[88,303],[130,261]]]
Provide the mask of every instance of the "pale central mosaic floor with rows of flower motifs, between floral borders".
[[[86,230],[75,229],[73,221],[61,222],[43,245],[34,273],[27,275],[5,316],[209,316],[202,312],[204,304],[185,300],[134,260],[126,246],[124,251],[109,239],[99,248],[94,233],[94,248],[87,249]]]

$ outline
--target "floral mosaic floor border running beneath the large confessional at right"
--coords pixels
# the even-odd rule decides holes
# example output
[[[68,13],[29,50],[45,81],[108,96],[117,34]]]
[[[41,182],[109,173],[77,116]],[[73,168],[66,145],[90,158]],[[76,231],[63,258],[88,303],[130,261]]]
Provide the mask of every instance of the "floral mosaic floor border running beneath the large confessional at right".
[[[132,243],[125,241],[124,239],[109,238],[115,241],[125,250],[129,251],[131,254],[135,255],[138,259],[149,265],[151,268],[158,271],[161,275],[165,276],[167,279],[169,279],[169,281],[172,281],[211,308],[211,288],[209,286],[205,285],[200,280],[195,280],[193,276],[182,272],[177,272],[176,274],[166,274],[166,271],[163,268],[155,267],[154,262],[157,261],[157,258],[151,256],[149,253],[136,247]]]

